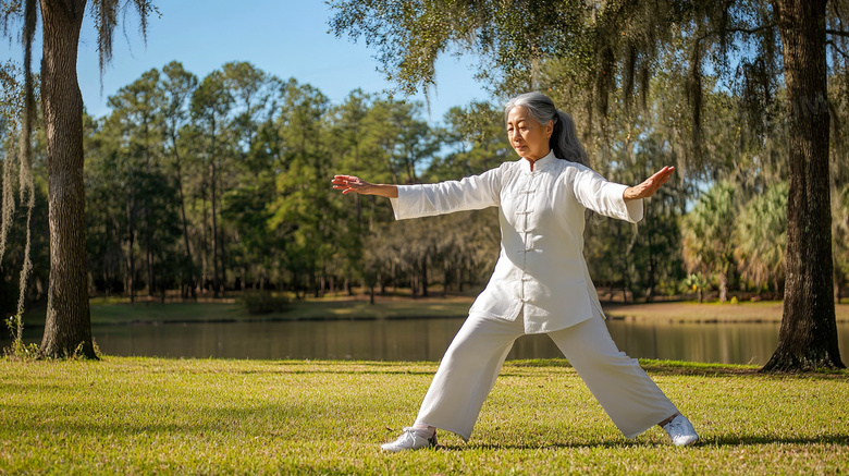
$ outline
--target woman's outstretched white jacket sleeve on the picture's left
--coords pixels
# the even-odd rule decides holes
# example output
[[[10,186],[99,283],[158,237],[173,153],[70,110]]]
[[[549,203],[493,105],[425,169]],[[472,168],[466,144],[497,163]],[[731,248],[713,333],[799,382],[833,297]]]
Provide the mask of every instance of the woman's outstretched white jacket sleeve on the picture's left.
[[[500,203],[502,174],[503,167],[500,167],[459,181],[398,185],[398,197],[390,198],[395,219],[496,207]]]

